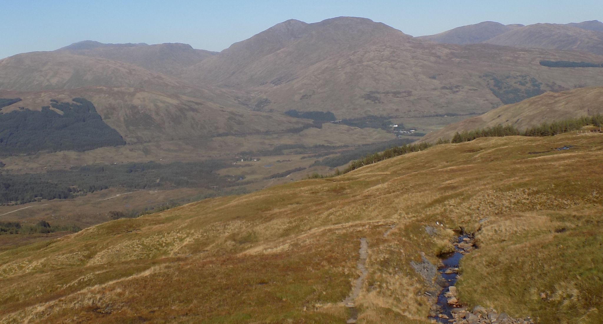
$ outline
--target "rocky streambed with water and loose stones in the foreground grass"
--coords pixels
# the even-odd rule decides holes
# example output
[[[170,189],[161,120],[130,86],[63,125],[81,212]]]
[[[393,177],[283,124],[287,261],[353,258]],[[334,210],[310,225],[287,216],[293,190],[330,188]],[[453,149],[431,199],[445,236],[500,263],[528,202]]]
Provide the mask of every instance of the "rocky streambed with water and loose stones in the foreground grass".
[[[453,243],[454,252],[441,255],[441,264],[437,269],[437,283],[443,289],[437,295],[432,305],[429,317],[438,323],[454,324],[534,324],[534,321],[525,319],[514,319],[505,313],[497,313],[495,310],[487,310],[476,306],[469,310],[457,298],[457,289],[454,286],[458,280],[459,261],[467,253],[476,249],[473,234],[464,233],[457,237]],[[428,294],[429,295],[429,294]],[[431,295],[430,295],[431,296]]]

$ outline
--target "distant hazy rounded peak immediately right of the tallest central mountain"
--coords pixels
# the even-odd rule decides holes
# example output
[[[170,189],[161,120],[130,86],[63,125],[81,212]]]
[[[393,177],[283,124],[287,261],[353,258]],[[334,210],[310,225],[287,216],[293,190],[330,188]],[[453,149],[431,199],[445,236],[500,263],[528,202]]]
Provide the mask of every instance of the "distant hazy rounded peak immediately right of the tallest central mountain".
[[[449,31],[440,32],[440,34],[419,36],[417,38],[435,41],[436,43],[476,44],[519,27],[523,27],[523,25],[503,25],[499,22],[481,22],[476,23],[475,25],[450,29]]]

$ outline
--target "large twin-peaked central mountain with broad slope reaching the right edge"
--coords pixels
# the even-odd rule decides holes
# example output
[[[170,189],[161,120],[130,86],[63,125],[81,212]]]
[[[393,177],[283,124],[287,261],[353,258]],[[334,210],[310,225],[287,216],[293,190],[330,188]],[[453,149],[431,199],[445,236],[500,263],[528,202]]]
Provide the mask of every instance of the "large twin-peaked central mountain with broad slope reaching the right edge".
[[[182,78],[249,91],[256,109],[331,111],[339,119],[481,114],[546,91],[603,84],[596,69],[551,69],[541,60],[603,62],[603,56],[437,44],[368,19],[338,17],[280,23]]]

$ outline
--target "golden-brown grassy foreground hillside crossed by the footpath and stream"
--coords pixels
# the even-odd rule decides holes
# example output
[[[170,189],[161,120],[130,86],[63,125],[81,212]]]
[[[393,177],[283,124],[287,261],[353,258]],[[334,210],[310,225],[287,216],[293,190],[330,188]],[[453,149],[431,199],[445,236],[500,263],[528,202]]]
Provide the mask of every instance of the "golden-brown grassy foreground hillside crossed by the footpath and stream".
[[[461,226],[461,302],[599,323],[601,162],[600,135],[478,138],[96,225],[0,253],[0,323],[344,322],[362,237],[359,322],[429,323],[410,262]]]

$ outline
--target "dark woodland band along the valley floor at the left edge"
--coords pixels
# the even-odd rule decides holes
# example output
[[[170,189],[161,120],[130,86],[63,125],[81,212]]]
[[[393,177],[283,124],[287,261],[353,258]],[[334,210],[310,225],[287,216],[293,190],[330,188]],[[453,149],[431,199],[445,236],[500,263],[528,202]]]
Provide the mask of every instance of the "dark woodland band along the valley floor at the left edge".
[[[42,199],[66,199],[107,188],[229,188],[244,177],[220,176],[225,160],[200,162],[89,165],[46,173],[0,174],[0,204],[25,204]]]

